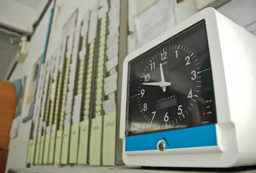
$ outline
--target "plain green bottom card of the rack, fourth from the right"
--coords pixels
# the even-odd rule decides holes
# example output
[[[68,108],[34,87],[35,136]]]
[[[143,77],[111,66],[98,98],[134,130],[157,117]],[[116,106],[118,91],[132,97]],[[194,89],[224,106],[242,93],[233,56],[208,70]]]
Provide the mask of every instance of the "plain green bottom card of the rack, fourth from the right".
[[[69,148],[69,163],[77,163],[79,140],[79,123],[71,126],[70,148]]]

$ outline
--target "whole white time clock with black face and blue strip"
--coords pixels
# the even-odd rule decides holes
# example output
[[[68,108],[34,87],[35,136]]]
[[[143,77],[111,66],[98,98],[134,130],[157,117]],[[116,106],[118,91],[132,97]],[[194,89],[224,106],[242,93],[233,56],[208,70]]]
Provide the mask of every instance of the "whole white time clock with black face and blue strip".
[[[120,117],[124,163],[254,164],[255,43],[242,27],[206,8],[130,53]]]

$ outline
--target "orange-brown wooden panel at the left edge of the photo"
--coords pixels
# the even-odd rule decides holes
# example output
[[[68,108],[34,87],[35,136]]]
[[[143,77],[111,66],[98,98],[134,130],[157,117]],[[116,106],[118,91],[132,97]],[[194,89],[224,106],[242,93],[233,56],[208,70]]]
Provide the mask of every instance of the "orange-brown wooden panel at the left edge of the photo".
[[[15,86],[12,83],[0,81],[0,149],[8,149],[16,102]]]

